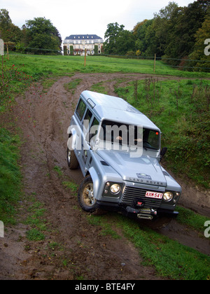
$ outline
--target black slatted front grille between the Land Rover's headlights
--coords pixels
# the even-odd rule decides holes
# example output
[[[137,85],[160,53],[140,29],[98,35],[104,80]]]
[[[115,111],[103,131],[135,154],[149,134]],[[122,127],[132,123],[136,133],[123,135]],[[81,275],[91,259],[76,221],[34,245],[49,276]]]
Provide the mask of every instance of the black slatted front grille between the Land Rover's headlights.
[[[151,189],[148,189],[148,190],[151,190]],[[138,187],[126,186],[125,191],[123,193],[123,198],[122,198],[121,204],[134,207],[135,202],[137,202],[137,200],[141,200],[142,202],[144,202],[145,208],[158,208],[158,207],[160,207],[162,199],[153,199],[153,198],[145,197],[146,192],[148,190],[138,188]],[[157,192],[157,191],[155,191],[155,192]]]

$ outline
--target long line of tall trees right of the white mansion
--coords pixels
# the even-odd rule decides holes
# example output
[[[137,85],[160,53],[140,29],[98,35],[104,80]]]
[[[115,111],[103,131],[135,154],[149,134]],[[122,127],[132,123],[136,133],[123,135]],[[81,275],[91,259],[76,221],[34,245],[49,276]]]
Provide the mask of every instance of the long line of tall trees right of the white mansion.
[[[210,38],[210,1],[200,0],[187,7],[169,2],[152,20],[138,22],[132,31],[111,23],[105,33],[104,52],[112,55],[156,54],[174,66],[210,67],[204,41]],[[182,59],[182,60],[180,60]],[[188,62],[193,59],[193,62]]]

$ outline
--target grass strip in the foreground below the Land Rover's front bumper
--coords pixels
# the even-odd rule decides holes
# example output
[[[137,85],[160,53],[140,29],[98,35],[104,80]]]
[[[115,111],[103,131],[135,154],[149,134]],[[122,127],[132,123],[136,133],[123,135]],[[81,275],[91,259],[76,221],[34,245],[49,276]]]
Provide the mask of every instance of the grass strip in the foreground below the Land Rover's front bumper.
[[[122,230],[123,235],[132,241],[139,255],[144,258],[143,265],[155,267],[159,276],[175,280],[210,279],[209,256],[193,248],[183,246],[178,241],[118,214],[87,218],[90,224],[102,227],[101,235],[111,235],[114,239],[120,239],[116,228]]]

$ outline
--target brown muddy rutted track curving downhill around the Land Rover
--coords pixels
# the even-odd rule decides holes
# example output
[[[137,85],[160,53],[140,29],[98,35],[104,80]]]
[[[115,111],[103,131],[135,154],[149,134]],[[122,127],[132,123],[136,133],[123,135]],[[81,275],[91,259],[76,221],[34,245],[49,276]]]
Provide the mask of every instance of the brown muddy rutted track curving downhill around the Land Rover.
[[[66,91],[64,84],[76,78],[82,80],[76,90]],[[28,226],[21,222],[26,212],[20,210],[19,225],[7,228],[0,243],[0,279],[162,279],[153,267],[141,265],[137,249],[123,234],[121,239],[103,236],[98,226],[88,223],[85,212],[78,209],[76,196],[64,188],[62,177],[55,171],[55,166],[59,167],[66,179],[76,183],[83,179],[80,169],[70,171],[66,162],[67,128],[80,92],[104,82],[108,94],[116,95],[116,83],[123,85],[144,78],[146,75],[141,74],[76,73],[57,79],[47,91],[42,85],[34,85],[25,97],[17,97],[15,116],[25,139],[21,162],[24,192],[36,195],[45,204],[50,232],[45,241],[27,241]],[[207,191],[184,185],[184,181],[183,186],[181,204],[207,215],[210,207]],[[176,221],[160,232],[209,254],[209,240],[186,231]],[[62,244],[62,250],[47,251],[52,242]],[[62,266],[62,260],[67,260],[68,265]]]

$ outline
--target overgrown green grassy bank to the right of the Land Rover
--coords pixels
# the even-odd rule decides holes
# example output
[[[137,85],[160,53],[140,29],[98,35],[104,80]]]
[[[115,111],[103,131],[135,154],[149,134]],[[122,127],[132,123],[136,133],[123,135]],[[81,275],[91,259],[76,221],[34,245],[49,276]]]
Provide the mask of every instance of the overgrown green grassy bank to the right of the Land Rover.
[[[148,78],[116,92],[160,127],[168,166],[209,188],[209,80]]]

